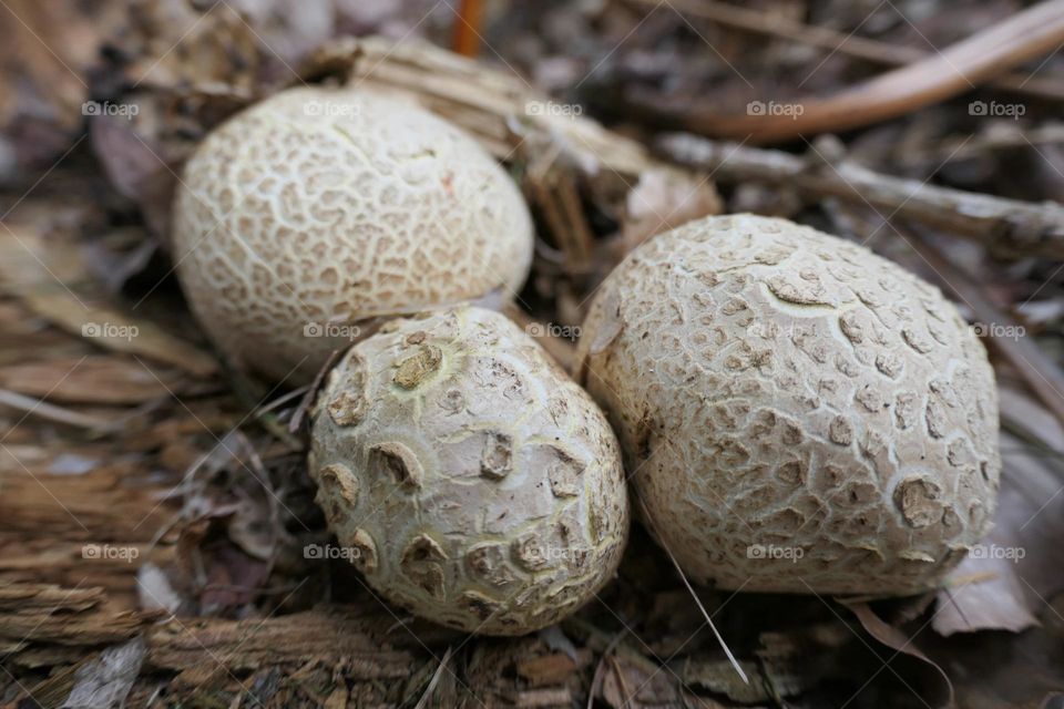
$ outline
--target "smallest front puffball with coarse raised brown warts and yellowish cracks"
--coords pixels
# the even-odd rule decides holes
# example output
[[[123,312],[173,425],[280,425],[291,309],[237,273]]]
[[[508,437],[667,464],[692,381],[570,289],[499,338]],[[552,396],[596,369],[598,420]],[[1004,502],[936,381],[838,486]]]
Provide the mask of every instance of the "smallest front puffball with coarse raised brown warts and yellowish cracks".
[[[616,439],[504,316],[463,307],[387,323],[328,374],[311,415],[317,502],[391,603],[521,635],[613,577],[628,530]]]

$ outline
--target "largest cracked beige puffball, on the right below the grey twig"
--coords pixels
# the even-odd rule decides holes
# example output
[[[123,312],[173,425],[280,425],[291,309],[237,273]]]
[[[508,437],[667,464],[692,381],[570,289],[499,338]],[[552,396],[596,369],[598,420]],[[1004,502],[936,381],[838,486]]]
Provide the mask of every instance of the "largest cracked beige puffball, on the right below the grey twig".
[[[991,527],[983,346],[866,248],[785,219],[693,222],[610,275],[579,362],[648,528],[700,583],[907,595]]]

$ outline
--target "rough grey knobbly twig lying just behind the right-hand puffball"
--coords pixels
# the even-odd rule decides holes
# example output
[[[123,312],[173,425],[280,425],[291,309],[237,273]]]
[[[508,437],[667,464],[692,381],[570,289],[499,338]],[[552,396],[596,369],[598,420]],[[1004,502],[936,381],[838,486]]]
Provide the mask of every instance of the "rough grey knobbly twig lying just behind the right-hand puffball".
[[[811,161],[687,134],[668,135],[658,145],[673,160],[709,171],[720,182],[786,183],[805,194],[870,204],[994,249],[1064,259],[1064,206],[1055,202],[1019,202],[938,187],[847,161]]]

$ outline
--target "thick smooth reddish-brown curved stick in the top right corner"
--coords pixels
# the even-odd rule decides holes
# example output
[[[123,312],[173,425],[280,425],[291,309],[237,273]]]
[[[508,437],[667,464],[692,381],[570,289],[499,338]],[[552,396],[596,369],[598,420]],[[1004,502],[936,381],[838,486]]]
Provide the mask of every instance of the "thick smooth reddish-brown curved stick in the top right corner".
[[[906,115],[1000,76],[1064,42],[1064,0],[1045,0],[943,51],[880,74],[828,99],[791,101],[801,113],[748,115],[717,113],[705,104],[669,114],[652,114],[706,135],[753,142],[787,141],[870,125]]]

